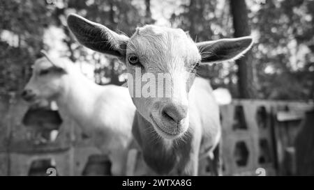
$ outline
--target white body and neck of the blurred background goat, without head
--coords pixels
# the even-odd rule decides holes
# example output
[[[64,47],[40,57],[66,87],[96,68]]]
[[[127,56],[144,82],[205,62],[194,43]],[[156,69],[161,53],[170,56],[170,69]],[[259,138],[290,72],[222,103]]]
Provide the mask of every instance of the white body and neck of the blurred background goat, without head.
[[[131,128],[135,114],[128,89],[98,86],[78,70],[68,74],[68,86],[57,97],[61,116],[66,114],[92,139],[99,150],[110,157],[112,173],[124,174]]]

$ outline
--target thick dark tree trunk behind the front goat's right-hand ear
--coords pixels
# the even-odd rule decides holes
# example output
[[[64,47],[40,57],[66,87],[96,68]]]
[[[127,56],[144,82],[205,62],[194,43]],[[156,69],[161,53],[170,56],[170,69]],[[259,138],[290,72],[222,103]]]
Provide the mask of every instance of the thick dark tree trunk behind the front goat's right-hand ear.
[[[248,10],[245,0],[230,0],[230,11],[233,17],[234,37],[251,35],[248,26]],[[238,89],[240,98],[255,98],[257,93],[254,86],[253,57],[251,50],[236,61],[238,66]]]

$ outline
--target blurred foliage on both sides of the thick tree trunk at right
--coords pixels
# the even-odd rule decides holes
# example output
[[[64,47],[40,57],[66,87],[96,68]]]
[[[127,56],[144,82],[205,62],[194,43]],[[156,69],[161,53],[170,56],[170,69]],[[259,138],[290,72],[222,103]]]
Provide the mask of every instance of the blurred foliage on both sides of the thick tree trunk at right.
[[[246,1],[255,45],[253,63],[257,98],[281,100],[313,99],[313,1]],[[219,4],[223,4],[220,9]],[[227,1],[190,1],[184,11],[171,17],[196,41],[232,37]],[[237,97],[237,65],[210,65],[200,73],[214,87],[224,86]],[[287,85],[289,84],[289,85]]]

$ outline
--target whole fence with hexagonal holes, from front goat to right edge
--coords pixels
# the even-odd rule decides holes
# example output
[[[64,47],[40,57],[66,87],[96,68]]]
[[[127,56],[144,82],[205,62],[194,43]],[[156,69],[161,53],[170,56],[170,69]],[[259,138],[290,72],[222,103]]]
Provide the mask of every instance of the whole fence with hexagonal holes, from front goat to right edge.
[[[314,122],[310,116],[313,112],[305,117],[306,111],[313,109],[313,102],[266,100],[234,100],[220,106],[223,174],[306,175],[303,171],[297,173],[297,163],[314,162]],[[310,132],[304,133],[304,129]],[[296,148],[303,143],[296,141],[300,134],[306,136],[306,144],[312,144],[308,149],[313,150],[297,161]],[[202,175],[209,175],[208,163],[203,161],[200,169]],[[314,175],[314,167],[309,169],[311,172]]]

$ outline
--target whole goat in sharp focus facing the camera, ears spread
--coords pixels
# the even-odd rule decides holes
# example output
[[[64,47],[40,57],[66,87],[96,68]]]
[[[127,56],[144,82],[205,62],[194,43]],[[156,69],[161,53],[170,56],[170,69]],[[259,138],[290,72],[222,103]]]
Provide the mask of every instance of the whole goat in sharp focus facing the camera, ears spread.
[[[82,45],[123,61],[128,80],[142,77],[140,82],[128,82],[128,88],[137,109],[132,132],[147,165],[161,175],[197,175],[198,160],[209,155],[217,174],[218,158],[213,155],[218,154],[214,150],[221,136],[219,108],[209,81],[194,73],[199,64],[239,58],[253,39],[195,43],[181,29],[154,25],[137,28],[129,38],[79,15],[68,15],[67,22]],[[138,86],[163,83],[158,74],[169,77],[166,87],[150,91],[152,96],[134,97]]]

